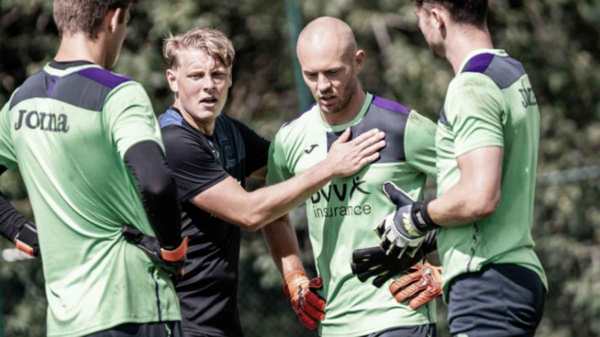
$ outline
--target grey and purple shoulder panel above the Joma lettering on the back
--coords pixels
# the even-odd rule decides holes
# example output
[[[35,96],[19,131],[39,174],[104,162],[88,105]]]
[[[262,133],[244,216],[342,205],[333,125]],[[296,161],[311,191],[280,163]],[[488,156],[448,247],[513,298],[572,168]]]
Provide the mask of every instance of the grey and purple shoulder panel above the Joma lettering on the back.
[[[109,92],[128,81],[127,77],[101,68],[86,68],[64,77],[39,71],[25,80],[10,108],[29,98],[53,98],[82,109],[101,111]]]

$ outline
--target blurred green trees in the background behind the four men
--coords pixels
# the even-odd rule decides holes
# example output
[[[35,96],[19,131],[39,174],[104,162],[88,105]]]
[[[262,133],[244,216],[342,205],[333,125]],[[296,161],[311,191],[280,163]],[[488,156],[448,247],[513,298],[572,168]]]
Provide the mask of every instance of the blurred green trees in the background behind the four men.
[[[297,4],[303,23],[329,15],[352,26],[367,53],[363,88],[437,121],[453,74],[449,64],[428,52],[410,1]],[[221,29],[237,52],[225,111],[272,137],[299,112],[290,57],[293,27],[285,5],[284,0],[140,1],[115,71],[142,83],[158,115],[172,103],[162,39],[168,32],[196,26]],[[523,62],[541,113],[533,237],[550,293],[539,336],[600,336],[599,17],[597,0],[490,1],[494,44]],[[52,59],[58,42],[52,1],[0,0],[0,104]],[[569,171],[577,168],[585,170]],[[18,170],[2,174],[0,190],[32,216]],[[292,215],[307,270],[314,275],[304,210]],[[0,243],[1,248],[10,246],[6,240]],[[316,336],[289,308],[280,275],[258,233],[244,234],[240,272],[239,309],[247,336]],[[45,335],[40,261],[0,262],[0,300],[5,336]],[[445,337],[445,306],[440,302],[438,307],[439,336]]]

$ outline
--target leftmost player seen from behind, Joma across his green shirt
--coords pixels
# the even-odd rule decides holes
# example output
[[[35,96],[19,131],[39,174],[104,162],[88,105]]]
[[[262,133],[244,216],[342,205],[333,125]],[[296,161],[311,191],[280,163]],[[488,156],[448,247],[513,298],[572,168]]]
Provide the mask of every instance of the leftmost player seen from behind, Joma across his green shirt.
[[[106,70],[132,2],[55,0],[58,52],[0,111],[0,165],[19,166],[38,220],[48,336],[180,333],[175,181],[148,95]]]

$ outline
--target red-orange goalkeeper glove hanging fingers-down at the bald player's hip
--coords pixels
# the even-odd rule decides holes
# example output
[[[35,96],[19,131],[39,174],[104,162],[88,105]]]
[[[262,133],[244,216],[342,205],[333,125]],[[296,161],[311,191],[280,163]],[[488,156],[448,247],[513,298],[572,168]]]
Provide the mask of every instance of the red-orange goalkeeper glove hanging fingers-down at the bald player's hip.
[[[296,315],[308,329],[317,329],[319,321],[325,319],[325,300],[316,293],[323,287],[320,277],[309,280],[302,270],[294,270],[285,277],[286,285],[283,289]]]

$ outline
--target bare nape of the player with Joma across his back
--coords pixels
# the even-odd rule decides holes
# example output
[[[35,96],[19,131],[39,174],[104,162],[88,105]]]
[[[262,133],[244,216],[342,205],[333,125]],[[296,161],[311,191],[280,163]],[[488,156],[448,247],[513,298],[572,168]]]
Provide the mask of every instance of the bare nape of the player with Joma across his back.
[[[107,67],[101,37],[91,40],[83,33],[64,35],[54,59],[58,62],[90,61],[103,68]]]

